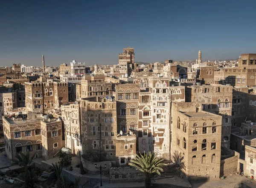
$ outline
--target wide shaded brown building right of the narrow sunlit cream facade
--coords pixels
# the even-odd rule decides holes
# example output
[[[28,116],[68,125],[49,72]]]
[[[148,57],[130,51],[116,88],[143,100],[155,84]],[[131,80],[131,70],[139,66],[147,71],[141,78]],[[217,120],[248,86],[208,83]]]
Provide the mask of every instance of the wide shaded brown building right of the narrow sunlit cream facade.
[[[116,101],[97,96],[82,98],[80,104],[83,152],[98,151],[115,160]]]

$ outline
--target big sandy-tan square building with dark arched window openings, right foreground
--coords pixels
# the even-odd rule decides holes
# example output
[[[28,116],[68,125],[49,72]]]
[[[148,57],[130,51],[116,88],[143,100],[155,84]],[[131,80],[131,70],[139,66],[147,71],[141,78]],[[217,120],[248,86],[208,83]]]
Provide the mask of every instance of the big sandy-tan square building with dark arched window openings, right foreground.
[[[172,103],[172,153],[183,158],[191,180],[219,179],[222,117],[197,111],[200,103]]]

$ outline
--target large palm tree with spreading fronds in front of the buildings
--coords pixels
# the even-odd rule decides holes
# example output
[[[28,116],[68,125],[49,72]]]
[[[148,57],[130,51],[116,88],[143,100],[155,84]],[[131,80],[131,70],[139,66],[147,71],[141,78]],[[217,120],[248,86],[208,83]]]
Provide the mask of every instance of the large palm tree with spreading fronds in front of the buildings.
[[[165,163],[163,163],[163,159],[157,158],[156,153],[145,153],[142,155],[136,154],[134,159],[131,159],[131,162],[128,165],[135,167],[137,170],[142,171],[145,174],[145,188],[151,187],[151,176],[152,174],[156,173],[159,176],[161,172],[163,172]]]

